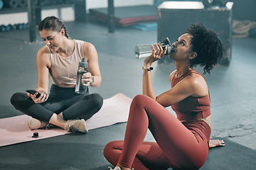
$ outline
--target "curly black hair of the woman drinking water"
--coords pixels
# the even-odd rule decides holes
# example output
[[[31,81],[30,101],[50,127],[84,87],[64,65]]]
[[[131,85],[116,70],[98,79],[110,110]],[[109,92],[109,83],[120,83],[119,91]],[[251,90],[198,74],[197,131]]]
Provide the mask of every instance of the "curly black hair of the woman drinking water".
[[[203,74],[210,74],[210,69],[218,64],[223,56],[223,44],[213,30],[207,29],[202,23],[193,23],[186,30],[191,36],[191,50],[197,57],[191,60],[190,67],[200,64]]]

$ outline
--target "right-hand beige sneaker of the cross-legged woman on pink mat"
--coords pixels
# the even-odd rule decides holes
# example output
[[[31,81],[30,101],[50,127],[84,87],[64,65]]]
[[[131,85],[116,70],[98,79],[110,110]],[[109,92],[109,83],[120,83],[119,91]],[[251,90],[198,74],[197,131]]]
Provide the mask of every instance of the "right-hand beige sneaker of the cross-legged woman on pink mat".
[[[84,119],[81,120],[68,120],[65,123],[64,129],[67,132],[83,132],[87,133],[87,125]]]

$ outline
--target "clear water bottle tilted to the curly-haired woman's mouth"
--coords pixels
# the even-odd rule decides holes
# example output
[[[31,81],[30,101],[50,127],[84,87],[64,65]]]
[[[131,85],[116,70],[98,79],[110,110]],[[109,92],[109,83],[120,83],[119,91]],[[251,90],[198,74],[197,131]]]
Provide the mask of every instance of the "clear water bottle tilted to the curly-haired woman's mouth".
[[[161,45],[161,47],[163,49],[167,46],[166,55],[171,54],[172,45],[171,45],[171,42],[168,37],[165,38],[162,42],[159,42],[159,44]],[[156,50],[155,46],[154,46],[154,48]],[[144,57],[149,57],[149,55],[151,55],[151,53],[152,53],[151,44],[136,45],[134,48],[134,53],[135,53],[135,57],[137,57],[138,59],[144,58]]]

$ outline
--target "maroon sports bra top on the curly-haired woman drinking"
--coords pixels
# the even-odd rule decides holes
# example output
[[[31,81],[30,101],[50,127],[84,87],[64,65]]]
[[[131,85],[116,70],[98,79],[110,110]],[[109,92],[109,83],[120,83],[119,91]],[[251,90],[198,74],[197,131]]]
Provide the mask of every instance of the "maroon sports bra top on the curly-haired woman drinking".
[[[203,75],[196,72],[196,70],[191,70],[181,77],[174,77],[171,80],[171,88],[191,73],[196,73],[203,77]],[[171,108],[176,112],[178,120],[196,120],[207,118],[210,115],[210,94],[199,98],[189,96],[184,98],[182,101],[175,103],[171,106]]]

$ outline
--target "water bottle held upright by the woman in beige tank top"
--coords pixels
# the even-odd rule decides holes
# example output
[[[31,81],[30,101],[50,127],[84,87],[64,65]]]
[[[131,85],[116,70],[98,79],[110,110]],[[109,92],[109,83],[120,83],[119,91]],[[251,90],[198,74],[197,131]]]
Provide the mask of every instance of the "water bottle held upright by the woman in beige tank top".
[[[79,62],[79,65],[78,65],[78,75],[77,75],[76,84],[75,84],[75,93],[77,94],[89,93],[88,86],[83,85],[83,83],[86,84],[86,82],[82,82],[82,75],[87,73],[87,67],[88,67],[88,64],[87,62],[85,62],[85,58],[82,58],[82,61]]]

